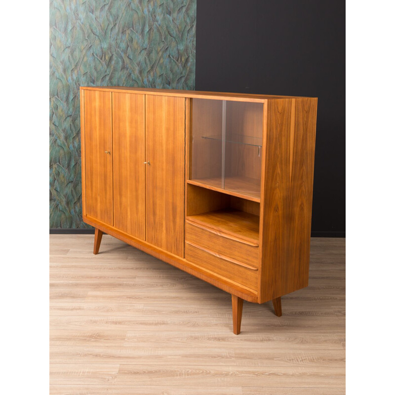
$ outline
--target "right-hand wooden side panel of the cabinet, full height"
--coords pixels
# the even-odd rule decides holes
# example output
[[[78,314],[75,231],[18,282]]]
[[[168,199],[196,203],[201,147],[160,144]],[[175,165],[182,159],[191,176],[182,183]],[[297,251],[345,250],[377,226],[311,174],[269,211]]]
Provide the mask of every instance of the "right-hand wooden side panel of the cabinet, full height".
[[[268,103],[260,302],[308,285],[316,99]]]

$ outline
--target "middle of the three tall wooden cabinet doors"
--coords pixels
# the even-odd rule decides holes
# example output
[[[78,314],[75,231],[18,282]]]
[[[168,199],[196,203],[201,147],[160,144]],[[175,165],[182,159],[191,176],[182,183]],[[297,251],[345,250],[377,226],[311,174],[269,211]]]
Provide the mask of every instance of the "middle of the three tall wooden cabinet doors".
[[[145,95],[113,92],[114,227],[145,240]]]

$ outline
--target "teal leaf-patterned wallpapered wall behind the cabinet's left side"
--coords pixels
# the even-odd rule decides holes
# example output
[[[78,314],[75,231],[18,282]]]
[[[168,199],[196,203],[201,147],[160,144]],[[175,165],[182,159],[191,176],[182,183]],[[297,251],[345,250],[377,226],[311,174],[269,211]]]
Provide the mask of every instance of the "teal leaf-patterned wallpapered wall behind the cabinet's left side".
[[[50,1],[50,228],[89,228],[79,86],[194,89],[196,1]]]

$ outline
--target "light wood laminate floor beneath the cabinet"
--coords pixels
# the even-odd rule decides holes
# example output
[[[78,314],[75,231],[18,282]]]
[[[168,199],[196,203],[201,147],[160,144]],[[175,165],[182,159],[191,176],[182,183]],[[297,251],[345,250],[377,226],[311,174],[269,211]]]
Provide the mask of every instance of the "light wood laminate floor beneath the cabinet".
[[[345,239],[313,238],[309,286],[244,302],[122,241],[50,236],[53,395],[345,393]]]

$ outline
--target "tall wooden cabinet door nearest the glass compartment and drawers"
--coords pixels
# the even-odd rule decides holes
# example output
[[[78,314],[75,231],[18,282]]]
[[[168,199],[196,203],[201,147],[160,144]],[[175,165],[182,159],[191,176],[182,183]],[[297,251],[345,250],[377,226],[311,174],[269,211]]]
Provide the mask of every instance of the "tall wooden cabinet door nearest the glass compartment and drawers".
[[[146,240],[184,256],[185,98],[146,95]]]

